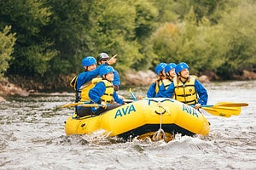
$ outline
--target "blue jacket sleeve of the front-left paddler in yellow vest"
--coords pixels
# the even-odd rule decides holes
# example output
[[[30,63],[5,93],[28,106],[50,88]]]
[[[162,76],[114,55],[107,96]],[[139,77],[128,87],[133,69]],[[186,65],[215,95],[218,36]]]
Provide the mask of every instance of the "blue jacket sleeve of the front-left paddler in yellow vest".
[[[101,97],[105,93],[106,87],[104,82],[96,83],[94,88],[91,88],[89,91],[89,97],[94,103],[101,103]]]

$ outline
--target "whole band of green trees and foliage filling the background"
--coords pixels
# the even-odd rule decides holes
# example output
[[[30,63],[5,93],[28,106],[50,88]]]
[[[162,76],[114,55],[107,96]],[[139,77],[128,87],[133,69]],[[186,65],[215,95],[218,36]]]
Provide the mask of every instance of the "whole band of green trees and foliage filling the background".
[[[3,0],[1,48],[9,52],[0,73],[78,73],[85,56],[107,52],[118,54],[120,74],[184,61],[192,73],[229,79],[255,71],[255,8],[252,0]]]

